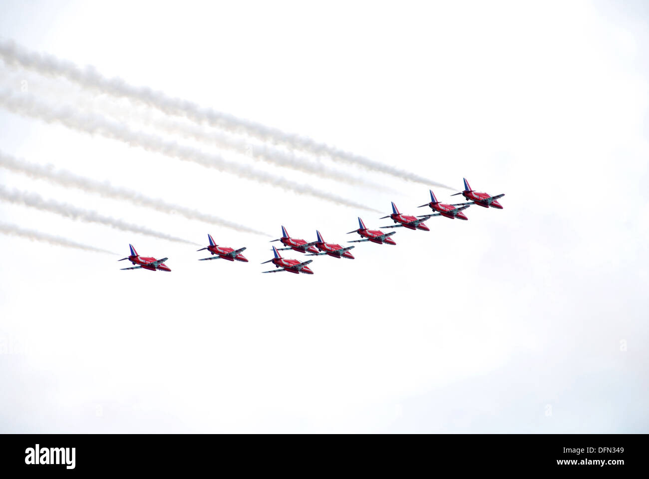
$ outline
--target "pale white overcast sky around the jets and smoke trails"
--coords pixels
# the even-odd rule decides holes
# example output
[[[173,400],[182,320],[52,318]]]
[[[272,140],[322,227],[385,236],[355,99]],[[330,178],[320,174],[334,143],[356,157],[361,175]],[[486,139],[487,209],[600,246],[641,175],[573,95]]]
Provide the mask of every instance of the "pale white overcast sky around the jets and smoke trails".
[[[506,197],[315,258],[313,276],[262,275],[280,225],[342,244],[358,215],[389,223],[0,109],[5,153],[273,235],[0,168],[3,185],[250,260],[0,203],[2,221],[116,252],[0,236],[0,431],[647,432],[648,18],[641,2],[3,1],[0,36],[28,49]],[[134,108],[0,75],[49,104]],[[258,167],[385,214],[428,201],[361,169],[395,193]],[[119,271],[129,243],[172,273]]]

